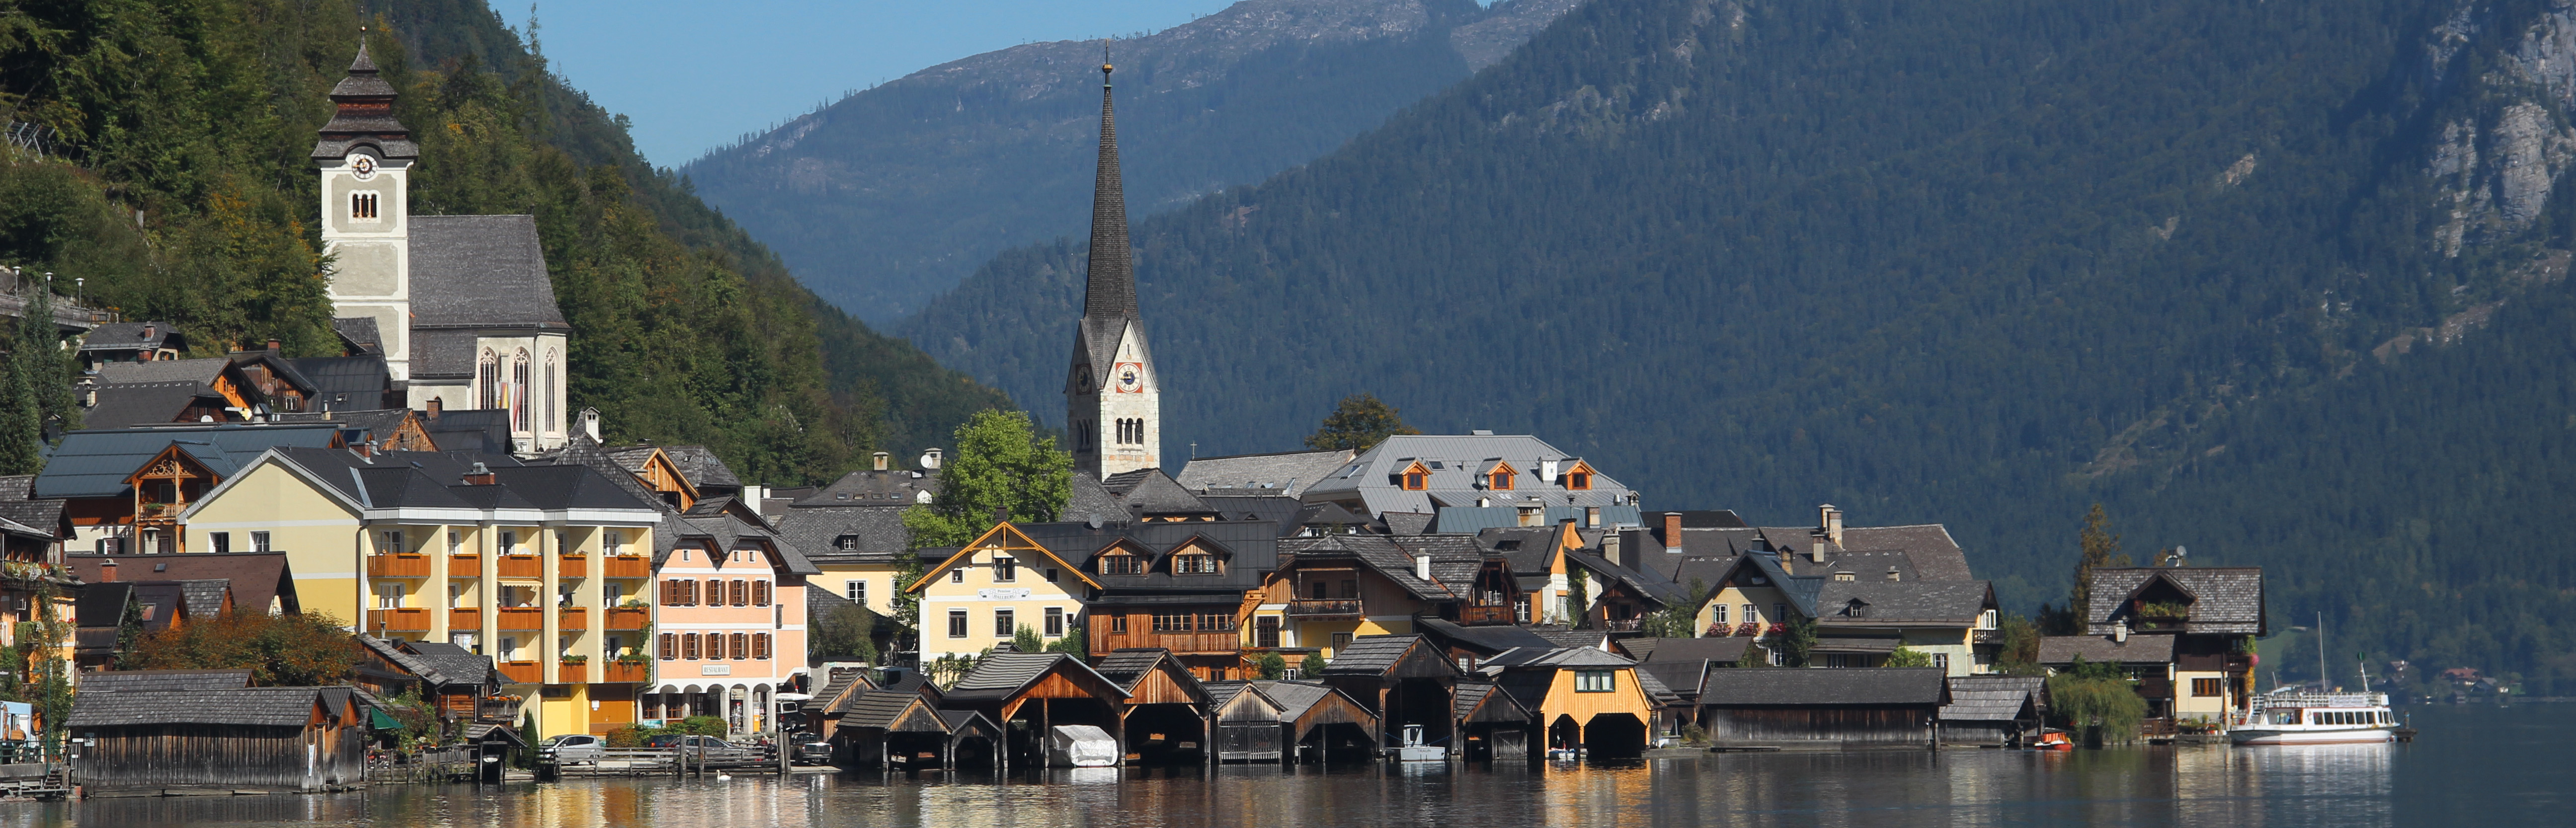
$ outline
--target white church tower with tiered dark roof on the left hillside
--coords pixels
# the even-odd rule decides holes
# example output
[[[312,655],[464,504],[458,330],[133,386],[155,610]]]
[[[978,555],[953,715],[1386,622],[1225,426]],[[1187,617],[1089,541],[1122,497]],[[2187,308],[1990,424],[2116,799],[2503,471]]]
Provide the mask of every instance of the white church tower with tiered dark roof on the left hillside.
[[[322,249],[335,255],[332,316],[374,319],[397,388],[412,381],[410,175],[412,131],[394,121],[394,85],[358,44],[358,62],[330,90],[337,108],[314,141],[322,167]]]

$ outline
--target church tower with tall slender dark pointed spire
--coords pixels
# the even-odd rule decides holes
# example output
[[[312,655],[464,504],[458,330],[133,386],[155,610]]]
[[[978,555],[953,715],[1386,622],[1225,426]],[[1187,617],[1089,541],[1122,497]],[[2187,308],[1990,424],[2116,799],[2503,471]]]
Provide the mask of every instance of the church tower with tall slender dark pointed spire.
[[[1110,67],[1100,67],[1100,177],[1092,183],[1092,260],[1064,378],[1074,471],[1113,476],[1162,468],[1162,378],[1136,316],[1136,252],[1126,239],[1118,118]]]

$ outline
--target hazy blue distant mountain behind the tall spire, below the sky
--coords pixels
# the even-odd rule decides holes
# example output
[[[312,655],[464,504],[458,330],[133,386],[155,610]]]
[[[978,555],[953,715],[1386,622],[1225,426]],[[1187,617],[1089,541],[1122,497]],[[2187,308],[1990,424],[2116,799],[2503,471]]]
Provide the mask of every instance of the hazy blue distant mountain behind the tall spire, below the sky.
[[[806,285],[891,321],[1015,244],[1084,226],[1100,62],[1131,211],[1255,183],[1497,62],[1582,0],[1244,0],[1141,39],[976,54],[855,93],[680,172]]]

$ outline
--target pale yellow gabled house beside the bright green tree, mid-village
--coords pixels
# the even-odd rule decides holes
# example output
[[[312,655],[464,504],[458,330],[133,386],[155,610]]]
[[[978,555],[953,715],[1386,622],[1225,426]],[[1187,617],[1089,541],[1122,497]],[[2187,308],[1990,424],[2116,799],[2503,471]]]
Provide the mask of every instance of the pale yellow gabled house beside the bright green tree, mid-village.
[[[819,579],[829,584],[829,573]],[[1082,630],[1082,602],[1095,589],[1100,581],[1010,522],[904,584],[922,599],[922,661],[976,656],[1020,627]]]

